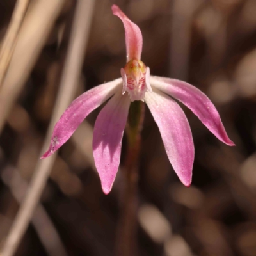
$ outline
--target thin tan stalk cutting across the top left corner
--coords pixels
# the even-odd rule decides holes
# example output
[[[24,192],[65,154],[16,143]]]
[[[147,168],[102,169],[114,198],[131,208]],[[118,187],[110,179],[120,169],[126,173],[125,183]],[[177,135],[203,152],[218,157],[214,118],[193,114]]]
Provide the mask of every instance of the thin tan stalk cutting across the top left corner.
[[[10,25],[6,31],[0,51],[0,88],[3,83],[6,70],[10,63],[12,52],[16,43],[22,20],[26,14],[30,0],[18,0],[15,4]]]

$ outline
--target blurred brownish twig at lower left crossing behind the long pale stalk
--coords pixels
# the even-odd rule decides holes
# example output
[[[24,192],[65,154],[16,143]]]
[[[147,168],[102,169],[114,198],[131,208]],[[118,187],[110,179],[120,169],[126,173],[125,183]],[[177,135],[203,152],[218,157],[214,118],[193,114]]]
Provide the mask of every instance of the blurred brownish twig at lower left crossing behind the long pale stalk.
[[[22,202],[22,198],[28,189],[27,182],[20,177],[19,172],[11,166],[6,168],[2,173],[2,179],[4,183],[10,188],[12,195],[18,202]],[[35,214],[32,218],[32,223],[35,227],[38,237],[46,252],[50,256],[67,256],[67,252],[63,243],[61,242],[60,236],[54,227],[54,224],[49,218],[47,212],[42,204],[38,204],[35,209]]]

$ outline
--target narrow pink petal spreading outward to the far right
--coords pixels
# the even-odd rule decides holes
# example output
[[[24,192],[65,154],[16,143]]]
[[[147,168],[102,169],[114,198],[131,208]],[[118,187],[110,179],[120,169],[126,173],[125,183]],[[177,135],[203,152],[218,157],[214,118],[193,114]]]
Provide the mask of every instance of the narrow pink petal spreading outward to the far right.
[[[228,138],[217,109],[211,100],[195,86],[177,79],[150,76],[152,86],[180,100],[198,116],[201,122],[222,142],[234,146]]]

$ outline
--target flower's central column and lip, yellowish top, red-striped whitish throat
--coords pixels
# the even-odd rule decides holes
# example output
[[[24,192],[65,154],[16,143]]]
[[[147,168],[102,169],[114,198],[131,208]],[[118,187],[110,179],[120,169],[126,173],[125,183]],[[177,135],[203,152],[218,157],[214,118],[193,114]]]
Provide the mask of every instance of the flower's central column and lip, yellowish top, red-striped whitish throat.
[[[144,101],[145,93],[152,92],[149,83],[150,70],[146,65],[136,58],[126,63],[121,68],[123,79],[123,94],[128,92],[131,102],[134,100]]]

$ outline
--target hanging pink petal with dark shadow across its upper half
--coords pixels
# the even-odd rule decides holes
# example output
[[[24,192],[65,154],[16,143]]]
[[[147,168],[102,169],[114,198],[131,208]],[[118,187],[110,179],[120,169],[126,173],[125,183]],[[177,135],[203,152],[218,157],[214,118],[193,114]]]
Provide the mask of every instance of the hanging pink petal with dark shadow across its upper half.
[[[120,164],[124,127],[130,106],[127,93],[116,93],[100,111],[93,131],[93,156],[105,194],[111,191]]]

